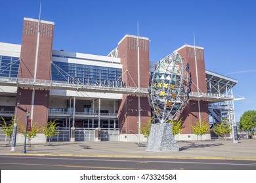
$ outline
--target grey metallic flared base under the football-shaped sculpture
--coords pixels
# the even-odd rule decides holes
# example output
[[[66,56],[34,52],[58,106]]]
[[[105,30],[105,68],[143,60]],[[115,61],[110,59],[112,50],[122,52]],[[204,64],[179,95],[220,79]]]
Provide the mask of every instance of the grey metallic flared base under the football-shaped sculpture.
[[[172,124],[152,124],[146,151],[151,152],[178,152],[179,146],[172,133]]]

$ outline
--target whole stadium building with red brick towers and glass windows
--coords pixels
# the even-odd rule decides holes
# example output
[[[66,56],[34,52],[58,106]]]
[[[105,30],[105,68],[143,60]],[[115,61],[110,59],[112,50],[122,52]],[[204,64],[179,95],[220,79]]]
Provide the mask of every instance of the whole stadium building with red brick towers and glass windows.
[[[146,141],[138,128],[152,116],[149,39],[125,35],[108,56],[98,56],[53,50],[53,35],[54,22],[24,18],[22,43],[0,42],[0,116],[25,124],[29,115],[37,125],[57,119],[54,141]],[[205,71],[202,47],[173,51],[189,63],[192,76],[190,101],[181,113],[185,128],[175,138],[195,140],[190,125],[200,119],[213,126],[221,116],[234,124],[232,88],[238,81]],[[17,142],[23,141],[18,134]],[[33,141],[44,142],[45,135]]]

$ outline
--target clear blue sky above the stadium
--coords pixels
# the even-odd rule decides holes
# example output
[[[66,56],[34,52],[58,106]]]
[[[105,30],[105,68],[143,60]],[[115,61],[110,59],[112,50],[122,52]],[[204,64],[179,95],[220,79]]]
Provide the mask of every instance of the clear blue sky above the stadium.
[[[205,69],[238,80],[236,121],[256,110],[256,1],[42,0],[41,19],[55,22],[56,50],[107,55],[125,34],[150,39],[150,61],[183,44],[204,48]],[[20,44],[23,18],[39,18],[39,0],[0,0],[0,42]]]

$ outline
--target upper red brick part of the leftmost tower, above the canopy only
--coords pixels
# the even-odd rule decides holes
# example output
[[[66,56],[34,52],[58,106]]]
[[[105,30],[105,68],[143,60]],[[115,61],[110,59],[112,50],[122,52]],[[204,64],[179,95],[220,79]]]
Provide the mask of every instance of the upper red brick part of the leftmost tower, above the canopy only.
[[[22,48],[20,53],[20,78],[34,78],[35,52],[37,46],[37,22],[24,20]],[[37,79],[50,80],[53,52],[54,25],[41,24],[39,52],[37,59]]]

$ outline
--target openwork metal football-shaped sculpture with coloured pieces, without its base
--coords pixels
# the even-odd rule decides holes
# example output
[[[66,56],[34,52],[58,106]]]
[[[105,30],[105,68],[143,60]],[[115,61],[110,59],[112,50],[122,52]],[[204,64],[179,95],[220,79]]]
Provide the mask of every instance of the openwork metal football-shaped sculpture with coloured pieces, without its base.
[[[188,73],[189,65],[185,65],[179,53],[174,52],[161,59],[150,76],[148,99],[161,123],[175,119],[186,105],[191,91]]]

